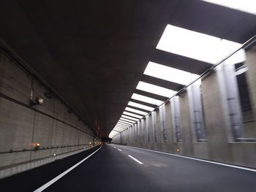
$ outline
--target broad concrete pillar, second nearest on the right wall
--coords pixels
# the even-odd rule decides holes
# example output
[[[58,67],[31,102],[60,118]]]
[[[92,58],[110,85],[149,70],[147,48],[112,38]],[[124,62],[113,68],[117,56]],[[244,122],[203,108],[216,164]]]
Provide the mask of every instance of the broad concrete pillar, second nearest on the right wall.
[[[218,67],[219,68],[219,67]],[[221,70],[221,68],[217,69]],[[209,74],[202,80],[203,106],[205,110],[206,128],[208,133],[208,156],[216,161],[230,161],[232,155],[227,139],[227,106],[219,82],[218,72]]]

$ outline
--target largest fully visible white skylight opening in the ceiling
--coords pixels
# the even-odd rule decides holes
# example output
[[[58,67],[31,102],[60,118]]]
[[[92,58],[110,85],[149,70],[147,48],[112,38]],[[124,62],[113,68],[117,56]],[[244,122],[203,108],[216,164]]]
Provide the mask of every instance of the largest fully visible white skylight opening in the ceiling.
[[[243,1],[244,4],[244,1]],[[222,58],[241,47],[241,44],[207,34],[167,25],[157,49],[209,64],[217,64]]]

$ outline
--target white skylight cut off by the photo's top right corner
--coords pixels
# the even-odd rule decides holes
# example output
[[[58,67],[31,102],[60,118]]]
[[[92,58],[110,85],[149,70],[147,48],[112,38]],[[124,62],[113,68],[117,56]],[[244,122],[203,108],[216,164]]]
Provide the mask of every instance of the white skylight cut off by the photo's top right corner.
[[[231,9],[236,9],[241,12],[248,12],[253,15],[256,15],[256,1],[255,0],[243,0],[243,1],[238,1],[238,0],[203,0],[207,1],[212,4],[219,4],[220,6],[223,7],[228,7]]]

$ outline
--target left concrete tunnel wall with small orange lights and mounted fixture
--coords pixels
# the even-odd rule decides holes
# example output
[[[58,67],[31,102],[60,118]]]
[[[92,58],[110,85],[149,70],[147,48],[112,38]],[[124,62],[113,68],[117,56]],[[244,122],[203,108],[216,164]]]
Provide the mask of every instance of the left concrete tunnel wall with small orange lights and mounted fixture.
[[[34,99],[44,99],[42,105],[31,106],[31,89]],[[29,169],[39,166],[37,161],[49,162],[53,155],[92,147],[97,139],[74,112],[68,112],[66,104],[54,95],[45,96],[48,88],[1,53],[0,93],[0,177],[25,170],[33,162]],[[37,143],[39,149],[34,150]]]

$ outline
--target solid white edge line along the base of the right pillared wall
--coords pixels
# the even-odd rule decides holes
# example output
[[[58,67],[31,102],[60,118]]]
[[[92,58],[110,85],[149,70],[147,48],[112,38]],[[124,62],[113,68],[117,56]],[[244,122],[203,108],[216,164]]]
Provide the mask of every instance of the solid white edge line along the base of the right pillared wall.
[[[122,146],[122,147],[124,147],[124,146]],[[125,147],[132,147],[132,146],[125,146]],[[140,148],[140,147],[132,147],[132,148],[136,148],[136,149],[140,149],[140,150],[148,150],[148,149],[143,149],[143,148]],[[218,163],[218,162],[214,162],[214,161],[203,160],[203,159],[200,159],[200,158],[190,158],[190,157],[183,156],[183,155],[175,155],[175,154],[172,154],[172,153],[165,153],[165,152],[161,152],[161,151],[157,151],[157,150],[148,150],[148,151],[151,151],[151,152],[154,152],[154,153],[162,153],[162,154],[165,154],[165,155],[172,155],[172,156],[176,156],[176,157],[179,157],[179,158],[188,158],[188,159],[192,159],[192,160],[195,160],[195,161],[206,162],[206,163],[209,163],[209,164],[217,164],[217,165],[222,165],[222,166],[233,167],[233,168],[236,168],[236,169],[244,169],[244,170],[250,171],[250,172],[256,172],[256,169],[250,169],[250,168],[246,168],[246,167],[243,167],[243,166],[222,164],[222,163]]]

